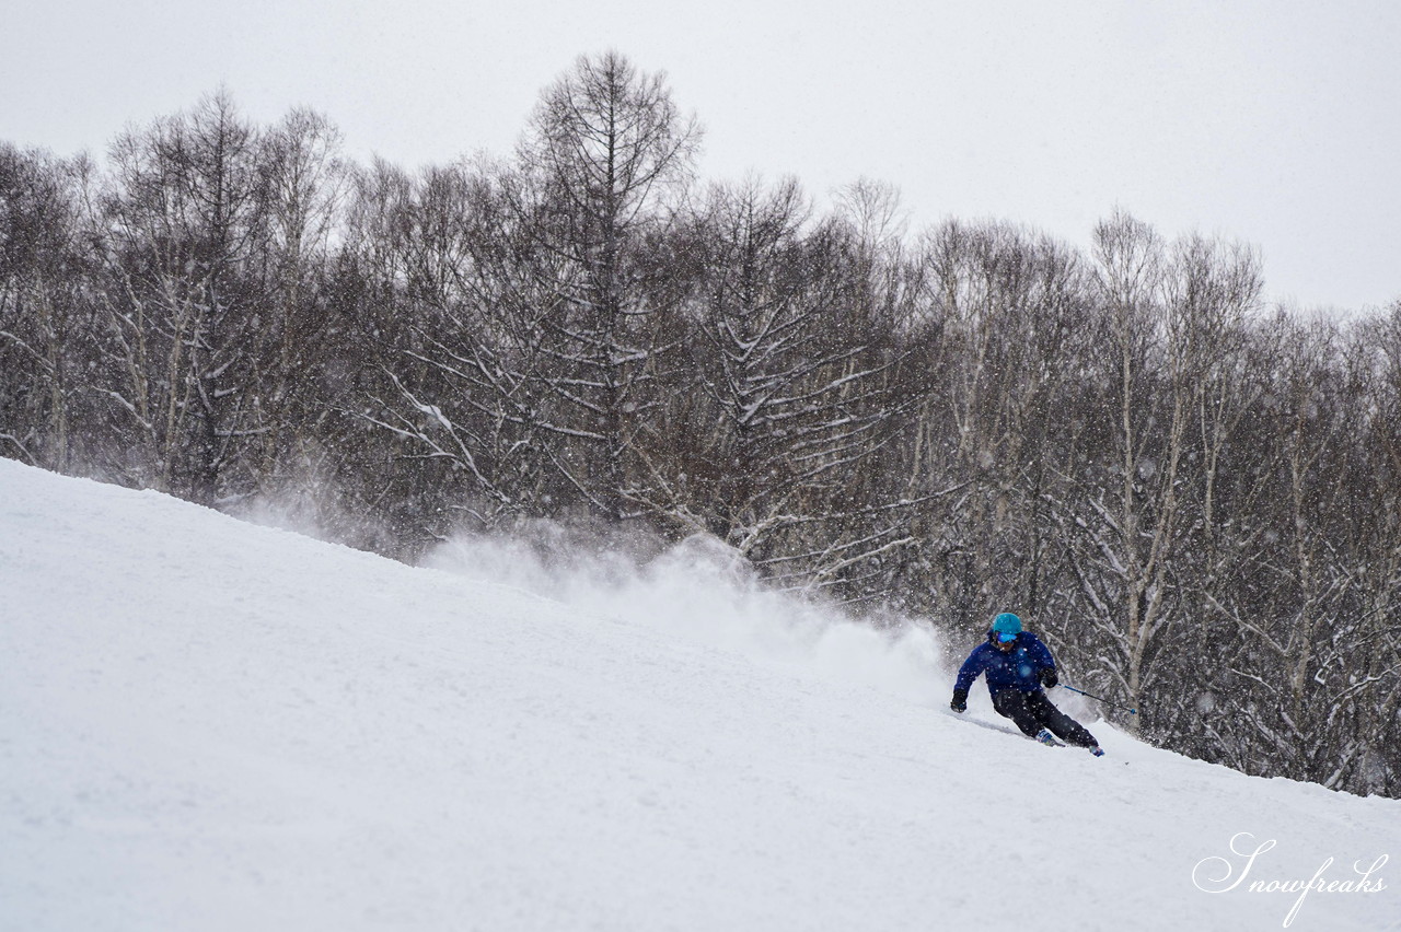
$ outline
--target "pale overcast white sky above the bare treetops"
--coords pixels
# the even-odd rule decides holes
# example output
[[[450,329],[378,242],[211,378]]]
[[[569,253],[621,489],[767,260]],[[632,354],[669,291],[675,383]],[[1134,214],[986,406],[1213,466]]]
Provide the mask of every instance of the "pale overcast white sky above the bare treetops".
[[[586,52],[664,70],[708,179],[859,176],[913,225],[1084,245],[1122,206],[1258,246],[1272,298],[1401,298],[1394,0],[0,0],[0,140],[102,153],[226,84],[405,168],[507,154]]]

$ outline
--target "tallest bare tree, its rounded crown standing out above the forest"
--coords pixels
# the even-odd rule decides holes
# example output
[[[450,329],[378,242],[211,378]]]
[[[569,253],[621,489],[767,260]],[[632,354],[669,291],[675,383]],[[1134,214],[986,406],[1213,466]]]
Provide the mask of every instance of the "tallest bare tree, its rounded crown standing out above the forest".
[[[654,326],[646,232],[668,221],[667,195],[689,181],[700,130],[671,99],[663,74],[616,52],[580,57],[542,95],[520,161],[537,176],[553,252],[552,313],[541,318],[555,357],[548,383],[558,417],[555,467],[584,501],[618,519],[636,512],[633,455],[656,403],[654,360],[677,347]],[[523,210],[523,213],[525,213]]]

